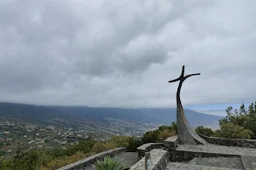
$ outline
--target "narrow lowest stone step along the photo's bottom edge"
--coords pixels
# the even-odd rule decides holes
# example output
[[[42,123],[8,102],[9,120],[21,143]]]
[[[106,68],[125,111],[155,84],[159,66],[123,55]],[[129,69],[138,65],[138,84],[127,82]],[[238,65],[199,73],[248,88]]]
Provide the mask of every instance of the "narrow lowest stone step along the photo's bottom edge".
[[[198,169],[198,170],[239,170],[236,168],[224,168],[224,167],[210,167],[210,166],[202,166],[202,165],[195,165],[195,164],[189,164],[189,163],[176,163],[176,162],[170,162],[166,166],[166,170],[185,170],[185,169]]]

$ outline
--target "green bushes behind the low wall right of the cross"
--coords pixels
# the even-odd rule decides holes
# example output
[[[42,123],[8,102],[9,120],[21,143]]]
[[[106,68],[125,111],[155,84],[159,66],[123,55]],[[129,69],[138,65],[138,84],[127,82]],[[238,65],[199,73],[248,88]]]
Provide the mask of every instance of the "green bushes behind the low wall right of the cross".
[[[230,106],[226,116],[219,120],[220,129],[212,131],[207,127],[196,127],[195,131],[207,136],[229,139],[256,139],[256,102],[248,108],[241,104],[239,110]]]

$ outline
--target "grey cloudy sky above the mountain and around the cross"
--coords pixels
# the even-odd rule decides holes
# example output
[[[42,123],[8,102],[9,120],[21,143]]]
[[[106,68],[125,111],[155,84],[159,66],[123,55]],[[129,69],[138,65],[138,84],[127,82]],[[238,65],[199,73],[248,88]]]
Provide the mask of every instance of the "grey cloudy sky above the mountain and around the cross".
[[[187,108],[256,101],[256,1],[0,0],[0,100]]]

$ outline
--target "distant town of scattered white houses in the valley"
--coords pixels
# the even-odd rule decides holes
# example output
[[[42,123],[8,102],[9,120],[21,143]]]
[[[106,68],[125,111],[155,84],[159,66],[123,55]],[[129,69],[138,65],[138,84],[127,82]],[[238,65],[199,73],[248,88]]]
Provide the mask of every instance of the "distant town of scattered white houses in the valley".
[[[154,123],[125,122],[106,118],[111,122],[109,128],[79,129],[72,127],[48,126],[31,122],[0,122],[0,156],[13,156],[19,148],[22,150],[45,149],[74,145],[80,139],[92,137],[105,141],[113,135],[141,136],[148,130],[160,125]]]

